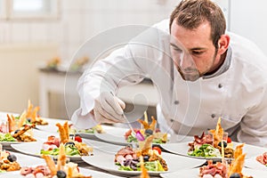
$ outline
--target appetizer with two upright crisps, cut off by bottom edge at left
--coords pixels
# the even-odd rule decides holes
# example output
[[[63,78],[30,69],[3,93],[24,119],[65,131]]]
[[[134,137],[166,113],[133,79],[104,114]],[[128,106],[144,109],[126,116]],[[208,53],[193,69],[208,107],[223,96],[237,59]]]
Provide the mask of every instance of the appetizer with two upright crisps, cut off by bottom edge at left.
[[[20,174],[25,177],[47,177],[47,178],[92,178],[92,176],[85,176],[79,172],[76,163],[67,163],[64,145],[61,143],[59,148],[59,157],[55,165],[53,158],[43,155],[46,166],[22,167]]]

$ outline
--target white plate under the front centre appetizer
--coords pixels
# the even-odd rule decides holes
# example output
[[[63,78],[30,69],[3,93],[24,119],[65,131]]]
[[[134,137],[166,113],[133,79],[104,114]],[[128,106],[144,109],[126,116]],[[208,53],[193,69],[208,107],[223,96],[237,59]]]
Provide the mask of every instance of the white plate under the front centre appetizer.
[[[103,170],[106,170],[113,174],[122,174],[127,176],[134,176],[141,174],[141,171],[122,171],[118,170],[119,166],[114,163],[115,154],[107,154],[104,152],[96,151],[94,157],[82,157],[82,159],[89,165],[96,166]],[[202,166],[206,160],[181,157],[178,155],[173,155],[169,153],[162,153],[162,158],[166,160],[166,164],[169,168],[167,172],[174,172],[179,169],[193,168],[197,166]],[[151,172],[150,175],[159,175],[162,172]]]

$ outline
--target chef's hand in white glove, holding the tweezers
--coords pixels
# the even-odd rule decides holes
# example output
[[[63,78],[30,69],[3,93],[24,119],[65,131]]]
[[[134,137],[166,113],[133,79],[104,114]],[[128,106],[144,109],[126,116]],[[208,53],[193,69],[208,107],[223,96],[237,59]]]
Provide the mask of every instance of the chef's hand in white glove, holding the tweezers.
[[[112,93],[104,92],[94,101],[93,114],[97,122],[119,123],[125,122],[125,102]]]

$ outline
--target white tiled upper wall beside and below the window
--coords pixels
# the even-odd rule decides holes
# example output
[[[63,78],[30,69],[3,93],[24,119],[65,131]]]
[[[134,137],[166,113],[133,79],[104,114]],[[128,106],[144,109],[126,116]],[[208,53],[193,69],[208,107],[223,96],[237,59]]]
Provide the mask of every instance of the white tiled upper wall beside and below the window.
[[[85,40],[127,24],[151,25],[169,17],[180,0],[61,0],[59,20],[0,20],[0,44],[56,42],[70,61]]]

